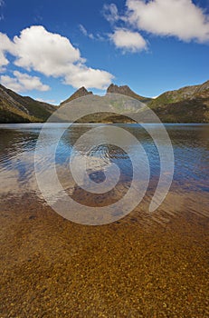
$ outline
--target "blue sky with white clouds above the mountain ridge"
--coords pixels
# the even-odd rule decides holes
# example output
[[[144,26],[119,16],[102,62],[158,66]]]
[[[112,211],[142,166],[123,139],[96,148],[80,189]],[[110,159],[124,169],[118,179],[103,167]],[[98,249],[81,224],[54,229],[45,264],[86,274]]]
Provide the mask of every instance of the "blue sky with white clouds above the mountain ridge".
[[[0,0],[0,81],[52,104],[82,85],[157,96],[201,84],[208,57],[208,0]]]

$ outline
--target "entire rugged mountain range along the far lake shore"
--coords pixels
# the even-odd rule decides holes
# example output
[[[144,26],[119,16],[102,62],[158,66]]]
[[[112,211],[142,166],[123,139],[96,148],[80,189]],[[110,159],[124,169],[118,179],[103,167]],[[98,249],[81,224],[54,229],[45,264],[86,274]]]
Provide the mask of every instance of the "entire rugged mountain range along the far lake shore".
[[[124,94],[147,104],[163,123],[209,123],[209,81],[204,84],[186,86],[176,91],[166,92],[156,99],[140,96],[127,85],[110,84],[107,93]],[[58,107],[72,100],[90,95],[85,87],[81,87],[60,106],[54,106],[33,100],[28,96],[21,96],[0,84],[0,124],[15,123],[44,123]],[[118,107],[118,106],[117,106]],[[116,107],[117,113],[118,108]],[[79,120],[80,123],[134,123],[126,109],[120,109],[121,114],[90,114]]]

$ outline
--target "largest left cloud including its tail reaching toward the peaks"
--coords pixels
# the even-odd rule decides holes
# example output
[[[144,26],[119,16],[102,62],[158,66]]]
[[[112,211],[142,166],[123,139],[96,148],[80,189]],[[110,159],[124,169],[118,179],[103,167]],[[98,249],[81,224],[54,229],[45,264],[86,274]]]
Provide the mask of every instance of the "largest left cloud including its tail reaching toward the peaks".
[[[19,36],[14,36],[13,41],[10,41],[6,35],[2,37],[4,38],[4,45],[0,43],[2,66],[8,64],[5,52],[9,52],[16,57],[14,65],[43,75],[61,77],[65,84],[71,84],[75,88],[85,85],[87,88],[104,89],[113,78],[108,72],[85,65],[86,61],[81,57],[80,50],[71,45],[68,38],[52,34],[42,25],[33,25],[24,29]]]

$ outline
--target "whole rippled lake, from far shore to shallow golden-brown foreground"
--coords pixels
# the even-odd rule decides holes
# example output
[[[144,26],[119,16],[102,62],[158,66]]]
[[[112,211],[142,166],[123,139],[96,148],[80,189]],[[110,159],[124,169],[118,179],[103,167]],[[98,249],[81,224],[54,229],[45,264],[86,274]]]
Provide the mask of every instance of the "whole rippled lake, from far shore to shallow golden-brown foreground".
[[[119,167],[113,191],[87,193],[71,177],[73,145],[99,126],[49,124],[44,129],[45,141],[36,148],[35,175],[34,152],[43,124],[0,124],[3,313],[42,316],[49,310],[52,316],[59,308],[58,316],[67,316],[66,312],[74,317],[79,306],[83,317],[96,313],[208,316],[209,125],[165,125],[174,150],[174,177],[164,202],[150,214],[148,206],[160,174],[157,147],[138,124],[116,124],[137,137],[147,154],[146,194],[130,214],[113,223],[75,224],[52,210],[36,177],[46,176],[47,195],[53,203],[59,202],[61,194],[51,184],[53,156],[45,154],[64,129],[55,164],[65,194],[90,207],[116,203],[131,184],[133,166],[128,154],[138,157],[135,143],[128,144],[128,153],[114,144],[101,144],[89,153],[93,163],[89,176],[96,184],[105,180],[109,167]],[[157,124],[149,128],[157,131]],[[168,149],[167,144],[163,147]],[[85,154],[86,145],[81,144],[79,151]],[[110,181],[115,178],[110,175]],[[25,302],[24,306],[20,301],[11,305],[16,299]]]

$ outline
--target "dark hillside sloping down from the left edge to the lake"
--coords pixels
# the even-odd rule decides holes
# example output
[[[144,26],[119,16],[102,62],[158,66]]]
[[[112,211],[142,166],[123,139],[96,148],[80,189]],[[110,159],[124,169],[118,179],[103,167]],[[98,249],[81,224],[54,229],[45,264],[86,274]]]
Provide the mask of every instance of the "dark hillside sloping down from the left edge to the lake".
[[[0,123],[45,122],[56,109],[52,104],[21,96],[0,84]]]

